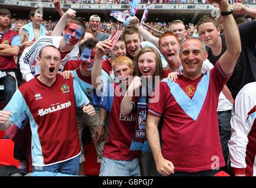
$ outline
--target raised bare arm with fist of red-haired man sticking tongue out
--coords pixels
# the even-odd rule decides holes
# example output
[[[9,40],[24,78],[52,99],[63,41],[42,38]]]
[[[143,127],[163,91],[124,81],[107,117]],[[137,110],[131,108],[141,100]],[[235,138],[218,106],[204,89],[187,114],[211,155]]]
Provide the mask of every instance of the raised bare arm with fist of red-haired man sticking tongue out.
[[[158,48],[158,41],[159,38],[153,36],[150,32],[148,32],[146,29],[144,29],[142,26],[139,26],[139,19],[136,16],[133,16],[130,21],[130,25],[134,25],[139,29],[139,32],[141,32],[141,36],[148,42],[153,43]]]

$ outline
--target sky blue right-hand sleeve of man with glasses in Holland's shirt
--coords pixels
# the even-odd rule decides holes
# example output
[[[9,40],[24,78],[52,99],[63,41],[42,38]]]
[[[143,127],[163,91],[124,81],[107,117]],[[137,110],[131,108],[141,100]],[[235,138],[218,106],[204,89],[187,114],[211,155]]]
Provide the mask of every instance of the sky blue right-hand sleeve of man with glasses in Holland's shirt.
[[[73,87],[75,92],[75,105],[78,108],[82,108],[85,105],[89,104],[89,99],[85,95],[85,93],[82,91],[80,86],[78,85],[77,81],[73,79]]]

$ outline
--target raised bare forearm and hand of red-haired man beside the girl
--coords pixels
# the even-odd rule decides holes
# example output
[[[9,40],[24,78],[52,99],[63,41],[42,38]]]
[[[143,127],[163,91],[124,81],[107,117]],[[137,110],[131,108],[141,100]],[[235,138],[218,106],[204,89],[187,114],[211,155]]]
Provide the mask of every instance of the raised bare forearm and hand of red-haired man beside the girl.
[[[97,80],[99,76],[101,76],[102,69],[102,58],[105,54],[108,53],[108,49],[110,49],[112,43],[110,40],[99,41],[96,45],[96,53],[94,58],[94,65],[92,66],[92,88],[97,89],[101,82]]]

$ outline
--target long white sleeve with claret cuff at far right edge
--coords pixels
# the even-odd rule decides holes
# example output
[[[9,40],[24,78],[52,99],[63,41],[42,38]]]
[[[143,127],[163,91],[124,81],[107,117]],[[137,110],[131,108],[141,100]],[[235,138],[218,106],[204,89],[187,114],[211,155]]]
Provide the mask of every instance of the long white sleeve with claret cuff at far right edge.
[[[255,108],[256,100],[254,96],[248,94],[248,90],[242,90],[235,98],[235,109],[232,109],[231,117],[231,139],[228,142],[230,150],[231,167],[235,173],[245,174],[245,157],[248,145],[248,134],[256,118],[256,113],[252,109]],[[240,169],[240,170],[237,170]]]

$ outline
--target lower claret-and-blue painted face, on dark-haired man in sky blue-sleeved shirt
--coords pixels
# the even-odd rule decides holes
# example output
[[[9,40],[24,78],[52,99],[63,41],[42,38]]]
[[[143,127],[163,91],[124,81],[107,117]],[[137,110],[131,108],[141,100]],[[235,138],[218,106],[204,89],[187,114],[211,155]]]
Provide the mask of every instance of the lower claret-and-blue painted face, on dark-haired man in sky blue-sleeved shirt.
[[[94,64],[95,48],[84,48],[80,55],[81,65],[85,70],[92,70]]]

